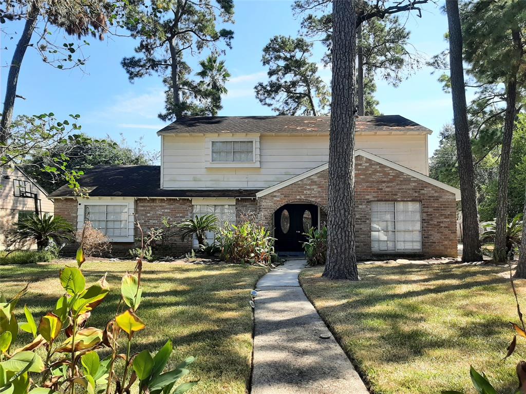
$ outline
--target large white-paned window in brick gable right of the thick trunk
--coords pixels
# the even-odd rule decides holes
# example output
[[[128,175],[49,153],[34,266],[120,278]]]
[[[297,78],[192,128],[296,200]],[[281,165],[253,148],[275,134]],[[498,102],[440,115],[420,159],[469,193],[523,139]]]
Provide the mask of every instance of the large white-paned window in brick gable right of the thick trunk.
[[[371,202],[371,249],[376,252],[421,251],[420,202]]]

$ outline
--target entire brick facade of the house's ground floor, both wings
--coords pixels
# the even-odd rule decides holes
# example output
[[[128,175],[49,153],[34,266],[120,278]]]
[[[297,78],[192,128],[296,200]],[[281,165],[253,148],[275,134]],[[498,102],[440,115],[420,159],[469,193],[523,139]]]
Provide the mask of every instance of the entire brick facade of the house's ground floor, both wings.
[[[257,221],[267,223],[270,228],[274,228],[274,212],[280,206],[293,202],[304,202],[318,205],[321,209],[320,222],[325,222],[327,174],[328,170],[320,171],[262,196],[258,200],[236,200],[237,221],[254,213]],[[371,252],[371,201],[420,201],[422,251],[413,253],[413,255],[457,256],[454,194],[376,161],[358,156],[355,162],[355,204],[356,244],[357,255],[360,259],[387,256]],[[73,199],[56,199],[55,214],[65,217],[66,220],[76,225],[76,204],[77,202]],[[190,199],[137,199],[135,200],[135,212],[146,231],[150,227],[160,226],[163,217],[168,217],[170,223],[179,223],[191,217],[192,203]],[[191,240],[182,242],[178,236],[175,236],[171,241],[171,246],[171,252],[183,254],[190,250]],[[123,255],[131,247],[136,247],[136,245],[114,243],[113,251],[116,255]]]

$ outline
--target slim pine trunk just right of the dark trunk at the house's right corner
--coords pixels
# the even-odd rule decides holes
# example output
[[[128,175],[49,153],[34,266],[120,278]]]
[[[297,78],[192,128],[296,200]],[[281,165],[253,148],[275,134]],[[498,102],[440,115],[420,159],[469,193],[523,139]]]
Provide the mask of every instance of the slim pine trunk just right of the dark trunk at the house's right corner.
[[[506,86],[506,111],[504,115],[504,133],[499,165],[499,191],[497,194],[497,217],[495,219],[495,248],[493,260],[506,261],[506,227],[508,225],[508,183],[510,178],[510,151],[515,122],[515,103],[517,100],[517,80],[512,78]]]

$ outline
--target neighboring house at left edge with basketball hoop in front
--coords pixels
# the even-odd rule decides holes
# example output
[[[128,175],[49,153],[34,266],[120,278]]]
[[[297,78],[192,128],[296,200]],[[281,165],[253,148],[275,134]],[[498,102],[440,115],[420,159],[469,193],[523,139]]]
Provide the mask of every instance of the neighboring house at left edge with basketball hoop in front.
[[[4,170],[0,188],[0,250],[8,247],[7,236],[22,217],[53,214],[53,201],[22,168]],[[36,245],[33,245],[36,247]]]

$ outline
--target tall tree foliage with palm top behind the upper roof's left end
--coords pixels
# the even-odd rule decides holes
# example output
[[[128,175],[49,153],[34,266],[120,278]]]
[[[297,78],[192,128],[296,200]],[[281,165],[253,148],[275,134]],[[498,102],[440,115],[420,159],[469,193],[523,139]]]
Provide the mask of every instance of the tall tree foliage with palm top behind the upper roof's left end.
[[[232,0],[212,2],[186,0],[130,3],[126,27],[139,40],[135,48],[137,56],[125,57],[122,65],[129,80],[148,75],[161,75],[166,86],[165,112],[159,114],[163,120],[185,116],[215,115],[220,107],[220,92],[206,87],[224,82],[229,74],[224,63],[217,62],[217,54],[224,50],[220,43],[231,47],[234,32],[217,27],[217,21],[233,22]],[[193,70],[185,62],[185,55],[200,55],[205,49],[213,55],[208,58],[198,75],[191,77]],[[215,67],[210,70],[210,66]],[[214,79],[214,82],[211,80]],[[224,90],[224,83],[221,90]]]

